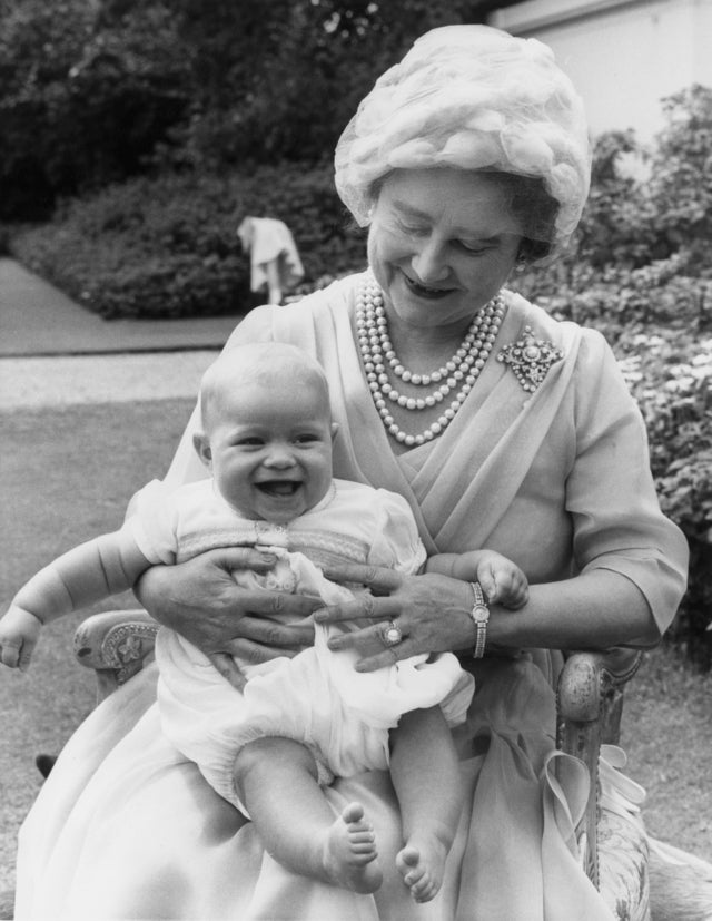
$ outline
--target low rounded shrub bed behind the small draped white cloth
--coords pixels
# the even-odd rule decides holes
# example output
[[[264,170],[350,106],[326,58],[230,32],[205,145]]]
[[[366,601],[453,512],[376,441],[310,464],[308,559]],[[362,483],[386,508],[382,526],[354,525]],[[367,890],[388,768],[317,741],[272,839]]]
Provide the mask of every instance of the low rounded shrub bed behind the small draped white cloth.
[[[250,176],[167,174],[68,202],[12,251],[27,266],[106,317],[236,313],[254,302],[236,229],[248,214],[278,217],[297,242],[306,283],[365,261],[330,167]]]

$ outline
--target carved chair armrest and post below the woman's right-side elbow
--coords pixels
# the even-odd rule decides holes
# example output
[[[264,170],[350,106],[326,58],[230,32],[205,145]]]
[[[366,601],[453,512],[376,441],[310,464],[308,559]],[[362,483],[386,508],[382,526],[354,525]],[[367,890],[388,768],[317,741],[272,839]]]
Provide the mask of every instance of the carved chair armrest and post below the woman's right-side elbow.
[[[576,829],[589,878],[599,885],[596,827],[599,822],[599,754],[602,744],[617,744],[623,688],[641,664],[639,649],[574,653],[558,679],[556,745],[581,758],[589,768],[591,790]]]

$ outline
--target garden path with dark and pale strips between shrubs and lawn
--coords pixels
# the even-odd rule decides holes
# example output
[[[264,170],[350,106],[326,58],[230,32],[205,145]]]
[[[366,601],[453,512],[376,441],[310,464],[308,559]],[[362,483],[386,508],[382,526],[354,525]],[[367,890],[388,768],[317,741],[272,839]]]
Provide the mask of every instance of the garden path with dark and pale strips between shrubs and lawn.
[[[239,320],[107,321],[0,258],[0,410],[194,396]]]

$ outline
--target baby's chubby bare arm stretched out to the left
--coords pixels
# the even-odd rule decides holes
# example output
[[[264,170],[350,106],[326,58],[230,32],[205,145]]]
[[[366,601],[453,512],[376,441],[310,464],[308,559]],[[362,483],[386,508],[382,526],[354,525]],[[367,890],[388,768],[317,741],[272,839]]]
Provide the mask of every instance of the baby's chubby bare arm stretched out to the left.
[[[149,566],[127,530],[58,557],[22,586],[0,618],[0,662],[26,670],[42,624],[132,588]]]

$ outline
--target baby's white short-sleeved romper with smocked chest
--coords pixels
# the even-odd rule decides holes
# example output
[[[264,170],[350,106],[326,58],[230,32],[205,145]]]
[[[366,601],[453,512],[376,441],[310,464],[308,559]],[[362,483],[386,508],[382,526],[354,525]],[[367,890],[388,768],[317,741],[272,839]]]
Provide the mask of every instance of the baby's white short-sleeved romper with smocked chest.
[[[334,480],[320,502],[284,527],[243,518],[211,479],[175,490],[155,481],[139,493],[136,513],[123,527],[154,564],[180,564],[219,547],[269,550],[278,557],[273,570],[238,570],[238,585],[322,597],[326,605],[349,601],[354,594],[324,578],[313,560],[367,562],[404,574],[425,562],[407,502],[345,480]],[[212,788],[247,815],[234,765],[249,742],[279,736],[301,743],[314,755],[319,783],[328,785],[335,776],[387,771],[388,734],[404,713],[439,705],[448,725],[464,722],[474,682],[456,656],[413,656],[377,672],[356,672],[353,650],[334,653],[327,646],[330,636],[353,628],[315,624],[314,644],[294,658],[260,665],[237,659],[248,679],[241,694],[192,644],[161,628],[156,660],[164,732]]]

